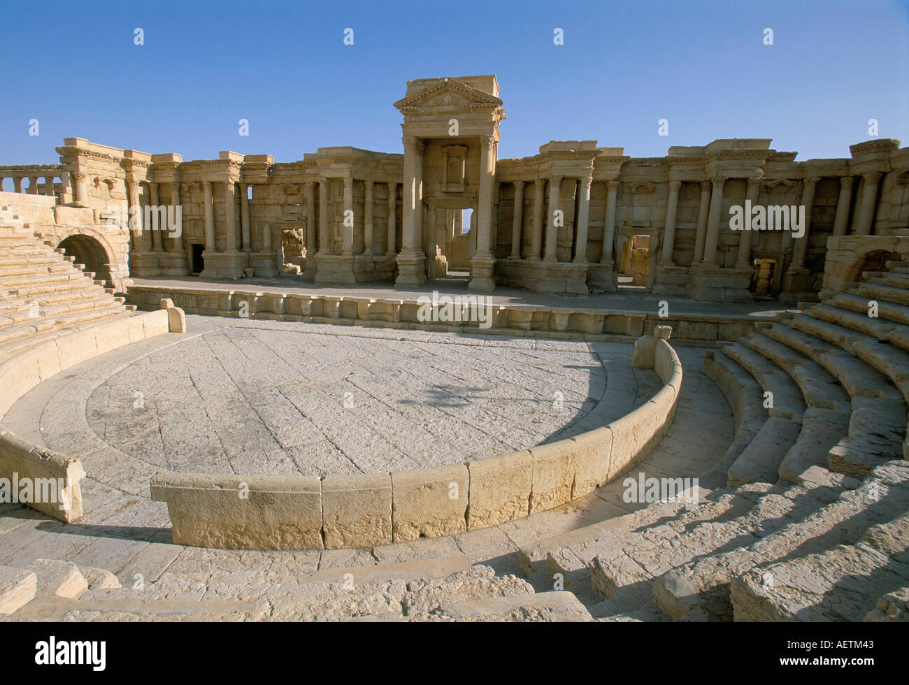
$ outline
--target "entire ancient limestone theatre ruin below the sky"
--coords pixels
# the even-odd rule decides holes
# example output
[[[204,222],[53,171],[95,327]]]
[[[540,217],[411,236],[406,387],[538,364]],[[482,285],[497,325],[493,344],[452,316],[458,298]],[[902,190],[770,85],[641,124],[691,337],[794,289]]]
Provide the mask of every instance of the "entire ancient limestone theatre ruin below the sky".
[[[395,107],[0,166],[0,620],[909,620],[909,148]]]

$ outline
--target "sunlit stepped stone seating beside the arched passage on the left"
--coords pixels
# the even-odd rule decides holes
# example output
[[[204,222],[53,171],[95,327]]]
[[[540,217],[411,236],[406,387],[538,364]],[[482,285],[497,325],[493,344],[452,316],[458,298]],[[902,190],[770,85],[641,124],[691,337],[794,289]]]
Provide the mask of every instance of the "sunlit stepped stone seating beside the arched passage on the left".
[[[36,238],[27,225],[0,225],[0,359],[62,329],[135,312],[83,269],[62,249]]]

